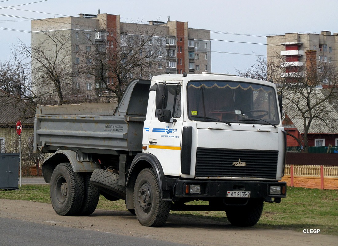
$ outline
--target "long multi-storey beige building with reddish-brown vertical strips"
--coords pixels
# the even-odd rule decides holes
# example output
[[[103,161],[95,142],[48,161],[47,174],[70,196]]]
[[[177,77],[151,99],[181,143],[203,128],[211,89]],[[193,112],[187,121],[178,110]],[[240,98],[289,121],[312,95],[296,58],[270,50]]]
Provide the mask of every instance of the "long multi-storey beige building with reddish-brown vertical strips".
[[[104,86],[95,76],[98,60],[104,60],[104,76],[107,84],[117,82],[117,73],[123,74],[121,64],[129,70],[124,79],[150,79],[159,74],[198,74],[211,72],[210,30],[188,28],[188,22],[148,21],[148,24],[121,22],[120,15],[79,14],[79,17],[61,17],[31,21],[32,48],[48,48],[48,55],[67,67],[66,84],[71,84],[83,95],[102,95]],[[141,45],[140,45],[141,43]],[[60,47],[58,47],[60,46]],[[132,59],[151,62],[130,69]],[[95,63],[95,71],[88,65]],[[120,65],[120,66],[119,66]],[[52,86],[39,83],[41,64],[32,60],[35,90],[48,90]],[[86,67],[87,70],[81,70]],[[88,71],[88,73],[86,72]],[[102,77],[102,76],[101,76]],[[35,79],[34,79],[35,78]],[[81,94],[79,93],[79,94]]]

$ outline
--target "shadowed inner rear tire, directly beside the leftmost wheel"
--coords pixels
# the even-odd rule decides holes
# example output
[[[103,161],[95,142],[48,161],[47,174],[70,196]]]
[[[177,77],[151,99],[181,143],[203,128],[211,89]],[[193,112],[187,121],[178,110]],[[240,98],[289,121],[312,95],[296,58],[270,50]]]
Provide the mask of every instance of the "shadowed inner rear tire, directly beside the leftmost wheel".
[[[90,182],[91,173],[82,174],[84,180],[84,197],[79,215],[88,216],[92,214],[100,199],[99,189]]]

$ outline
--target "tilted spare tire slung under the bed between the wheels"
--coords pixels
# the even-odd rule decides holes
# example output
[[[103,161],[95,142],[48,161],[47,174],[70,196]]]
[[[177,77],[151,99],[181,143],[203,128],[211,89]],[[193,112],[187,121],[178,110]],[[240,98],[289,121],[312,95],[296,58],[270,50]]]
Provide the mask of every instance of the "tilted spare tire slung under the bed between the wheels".
[[[119,185],[119,175],[117,173],[104,169],[95,169],[90,182],[105,194],[118,199],[126,199],[126,188]]]

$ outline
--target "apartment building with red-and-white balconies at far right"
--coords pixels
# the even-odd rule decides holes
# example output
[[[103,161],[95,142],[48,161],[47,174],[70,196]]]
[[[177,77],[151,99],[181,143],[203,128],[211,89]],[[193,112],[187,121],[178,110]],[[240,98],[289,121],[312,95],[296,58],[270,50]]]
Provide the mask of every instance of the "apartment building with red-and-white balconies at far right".
[[[316,57],[318,73],[323,73],[326,66],[337,66],[338,33],[322,31],[320,34],[287,33],[267,37],[268,62],[280,65],[280,76],[290,81],[304,76],[301,68],[309,55]]]

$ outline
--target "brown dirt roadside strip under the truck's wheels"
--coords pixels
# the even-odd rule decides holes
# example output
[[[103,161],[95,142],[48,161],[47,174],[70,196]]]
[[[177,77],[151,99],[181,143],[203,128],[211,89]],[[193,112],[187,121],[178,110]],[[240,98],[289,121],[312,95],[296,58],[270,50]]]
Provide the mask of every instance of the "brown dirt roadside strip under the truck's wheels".
[[[95,210],[91,216],[58,216],[51,204],[0,199],[0,217],[41,224],[74,227],[191,245],[337,245],[338,236],[269,228],[238,228],[227,221],[191,219],[171,214],[164,227],[139,224],[129,212]],[[316,228],[304,228],[316,229]]]

